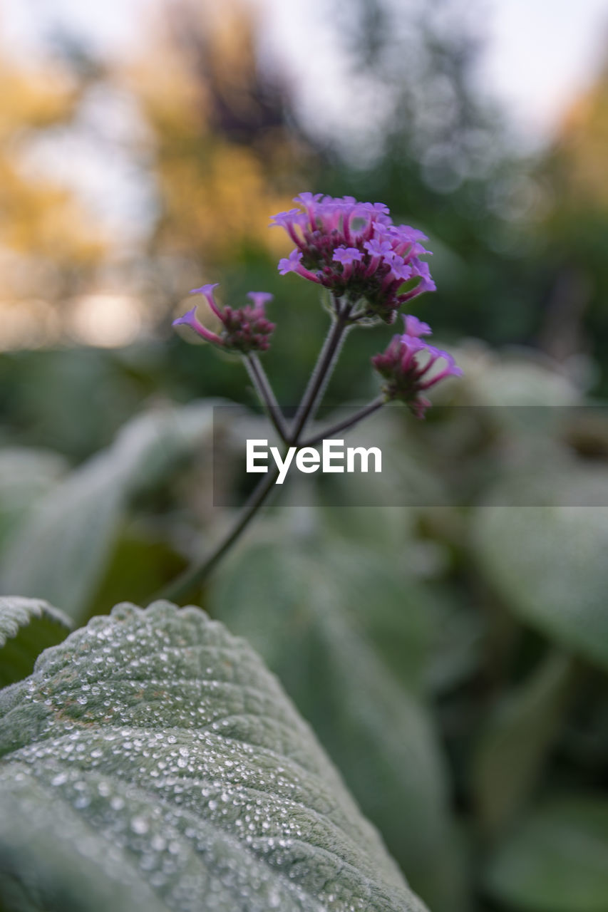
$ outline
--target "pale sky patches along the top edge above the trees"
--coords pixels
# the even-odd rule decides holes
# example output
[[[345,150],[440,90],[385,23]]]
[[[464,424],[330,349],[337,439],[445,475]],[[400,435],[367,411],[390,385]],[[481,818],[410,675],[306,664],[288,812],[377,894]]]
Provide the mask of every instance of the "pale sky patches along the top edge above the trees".
[[[329,52],[317,47],[315,24],[327,0],[251,0],[262,10],[268,40],[295,72],[310,76],[315,47],[317,80],[309,79],[309,105],[327,86]],[[486,47],[479,86],[502,104],[521,139],[549,140],[568,103],[592,81],[608,46],[608,0],[477,0]],[[104,51],[129,53],[155,0],[4,0],[0,22],[9,42],[35,48],[53,21],[68,24]],[[404,3],[404,9],[407,4]],[[311,43],[313,43],[311,45]],[[319,52],[319,57],[317,54]],[[323,72],[325,71],[325,72]]]

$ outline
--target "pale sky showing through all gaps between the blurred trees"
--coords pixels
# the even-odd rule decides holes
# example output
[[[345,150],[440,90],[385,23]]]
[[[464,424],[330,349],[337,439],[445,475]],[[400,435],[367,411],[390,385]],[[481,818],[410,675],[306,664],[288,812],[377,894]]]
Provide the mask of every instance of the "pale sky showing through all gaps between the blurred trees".
[[[205,0],[197,2],[203,5]],[[321,134],[324,129],[335,133],[351,98],[357,98],[358,111],[365,105],[373,113],[381,109],[382,98],[365,98],[365,86],[360,90],[351,85],[350,92],[345,89],[341,94],[348,63],[334,53],[330,29],[324,34],[319,29],[335,0],[246,2],[262,17],[262,51],[274,57],[291,79],[300,113],[309,125]],[[348,10],[350,0],[344,2]],[[392,2],[400,14],[402,8],[424,10],[428,0]],[[571,0],[469,2],[479,10],[479,33],[485,39],[478,87],[505,111],[511,149],[538,150],[550,141],[564,110],[598,72],[608,47],[608,0],[576,0],[575,15]],[[35,60],[55,29],[79,36],[102,56],[128,58],[146,35],[145,25],[157,4],[158,0],[103,0],[95,5],[82,0],[0,0],[3,47]],[[82,130],[39,143],[30,166],[79,192],[121,244],[138,244],[153,221],[156,199],[152,182],[136,173],[121,151],[121,133],[137,129],[137,113],[128,109],[124,98],[112,98],[106,90],[103,97],[89,98],[80,116]],[[342,123],[344,129],[343,118]]]

